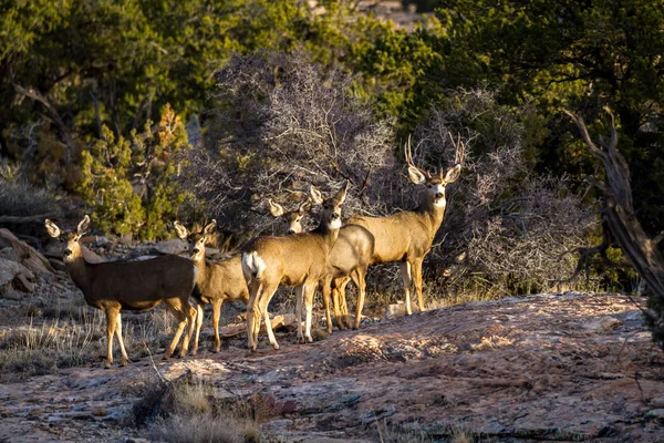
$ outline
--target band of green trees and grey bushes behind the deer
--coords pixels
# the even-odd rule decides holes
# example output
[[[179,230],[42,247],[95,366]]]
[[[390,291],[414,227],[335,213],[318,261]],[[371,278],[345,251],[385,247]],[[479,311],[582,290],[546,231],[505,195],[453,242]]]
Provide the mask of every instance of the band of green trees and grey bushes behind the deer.
[[[354,4],[2,2],[0,214],[66,205],[136,239],[215,217],[246,239],[278,231],[268,198],[290,209],[311,184],[349,179],[346,216],[413,208],[405,141],[434,169],[459,134],[465,168],[427,286],[548,290],[574,269],[564,250],[600,239],[588,178],[602,172],[562,109],[606,134],[608,104],[639,219],[663,229],[661,2],[426,0],[405,28]],[[603,266],[596,285],[635,287]]]

